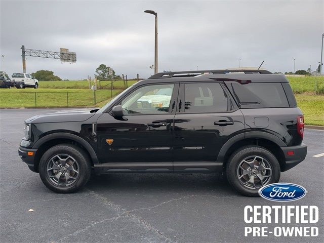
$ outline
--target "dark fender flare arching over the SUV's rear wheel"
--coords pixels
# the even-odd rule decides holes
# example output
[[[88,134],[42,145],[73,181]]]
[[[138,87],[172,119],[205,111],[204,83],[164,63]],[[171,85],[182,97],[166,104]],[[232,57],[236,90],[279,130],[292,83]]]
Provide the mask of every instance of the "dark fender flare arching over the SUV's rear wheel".
[[[267,139],[271,142],[274,142],[277,144],[279,147],[287,147],[287,144],[282,141],[280,138],[277,136],[271,134],[271,133],[266,133],[266,132],[246,132],[246,133],[240,133],[232,138],[230,138],[221,148],[221,150],[218,153],[217,160],[216,161],[224,161],[224,157],[226,155],[226,152],[228,149],[236,142],[246,139],[246,138],[263,138]]]

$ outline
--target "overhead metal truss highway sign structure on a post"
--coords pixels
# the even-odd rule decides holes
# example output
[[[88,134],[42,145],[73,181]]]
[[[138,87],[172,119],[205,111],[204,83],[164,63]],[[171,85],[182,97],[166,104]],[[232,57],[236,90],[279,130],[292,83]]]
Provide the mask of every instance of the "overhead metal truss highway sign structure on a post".
[[[21,46],[21,56],[22,56],[22,69],[26,72],[26,58],[29,57],[43,57],[43,58],[53,58],[60,59],[61,62],[76,62],[75,52],[69,52],[69,49],[61,48],[60,52],[42,51],[34,49],[25,49],[25,46]]]

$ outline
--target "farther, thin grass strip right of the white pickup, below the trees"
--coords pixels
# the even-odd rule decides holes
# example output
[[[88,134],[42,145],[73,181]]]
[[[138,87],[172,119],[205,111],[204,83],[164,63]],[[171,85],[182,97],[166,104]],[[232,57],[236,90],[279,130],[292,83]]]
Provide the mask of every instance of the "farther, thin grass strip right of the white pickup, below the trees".
[[[136,80],[128,80],[128,86],[136,83]],[[94,83],[92,82],[91,85]],[[102,89],[110,89],[111,81],[101,81],[100,86]],[[97,82],[99,88],[99,81]],[[39,81],[39,88],[44,89],[89,89],[88,81]],[[126,81],[124,84],[123,80],[116,80],[113,82],[114,89],[125,89]]]

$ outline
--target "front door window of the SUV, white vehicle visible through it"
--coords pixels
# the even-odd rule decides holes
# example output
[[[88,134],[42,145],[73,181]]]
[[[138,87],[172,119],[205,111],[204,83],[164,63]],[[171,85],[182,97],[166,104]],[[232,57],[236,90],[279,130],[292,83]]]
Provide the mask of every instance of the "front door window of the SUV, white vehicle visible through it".
[[[141,87],[121,101],[124,114],[159,114],[169,111],[174,85]]]

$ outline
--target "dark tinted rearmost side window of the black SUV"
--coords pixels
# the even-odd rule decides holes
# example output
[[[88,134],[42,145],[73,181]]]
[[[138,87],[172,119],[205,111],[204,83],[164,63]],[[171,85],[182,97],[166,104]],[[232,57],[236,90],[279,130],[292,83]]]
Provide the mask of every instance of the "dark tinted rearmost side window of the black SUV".
[[[225,82],[241,108],[289,107],[281,83]]]

